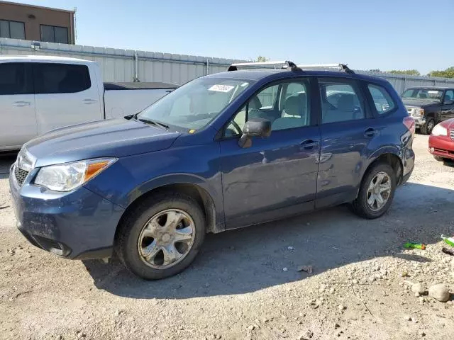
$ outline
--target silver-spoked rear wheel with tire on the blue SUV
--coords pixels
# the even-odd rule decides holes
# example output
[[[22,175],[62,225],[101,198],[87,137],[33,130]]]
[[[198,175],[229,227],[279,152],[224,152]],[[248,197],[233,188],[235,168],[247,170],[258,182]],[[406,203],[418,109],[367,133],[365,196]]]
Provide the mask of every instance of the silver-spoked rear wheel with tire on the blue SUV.
[[[391,206],[395,190],[394,170],[389,164],[377,163],[367,170],[351,208],[360,217],[380,217]]]

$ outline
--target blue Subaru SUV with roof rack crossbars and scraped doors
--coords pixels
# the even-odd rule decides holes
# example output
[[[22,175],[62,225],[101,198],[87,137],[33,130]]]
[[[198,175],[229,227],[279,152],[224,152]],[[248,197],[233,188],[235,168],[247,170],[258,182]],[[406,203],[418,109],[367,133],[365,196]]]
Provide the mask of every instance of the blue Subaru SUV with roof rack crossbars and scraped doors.
[[[26,143],[9,178],[18,229],[158,279],[189,266],[207,232],[342,203],[383,215],[414,168],[396,91],[343,64],[270,65],[233,64],[136,115]]]

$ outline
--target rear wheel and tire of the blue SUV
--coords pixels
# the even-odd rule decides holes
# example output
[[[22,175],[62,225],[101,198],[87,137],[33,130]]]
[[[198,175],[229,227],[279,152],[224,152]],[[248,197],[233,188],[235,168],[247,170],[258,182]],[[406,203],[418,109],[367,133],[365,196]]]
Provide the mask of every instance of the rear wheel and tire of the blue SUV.
[[[389,185],[389,193],[370,193],[371,182],[373,180],[380,179],[381,174],[386,174],[387,176],[387,181],[385,181],[385,178],[382,179],[383,182],[381,182],[381,186],[384,187]],[[351,209],[353,210],[353,212],[355,212],[356,215],[370,220],[382,216],[385,212],[387,212],[387,210],[389,210],[389,207],[392,204],[394,192],[397,186],[396,183],[396,175],[394,174],[394,170],[389,164],[377,163],[372,165],[370,169],[367,169],[365,176],[362,178],[358,197],[353,201],[353,203],[351,203]],[[386,193],[387,195],[385,195]],[[375,195],[374,197],[380,195],[380,197],[382,197],[382,200],[384,201],[384,205],[379,207],[378,200],[374,200],[371,206],[368,203],[368,200],[373,200],[373,195]],[[387,197],[386,200],[384,200],[384,196]]]

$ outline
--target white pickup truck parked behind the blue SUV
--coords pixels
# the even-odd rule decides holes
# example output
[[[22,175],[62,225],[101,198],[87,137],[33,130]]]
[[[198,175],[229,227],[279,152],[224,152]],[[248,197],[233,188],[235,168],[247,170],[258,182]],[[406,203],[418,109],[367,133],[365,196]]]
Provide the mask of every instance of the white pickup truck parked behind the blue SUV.
[[[106,83],[99,64],[53,56],[0,56],[0,152],[67,125],[132,115],[177,86]]]

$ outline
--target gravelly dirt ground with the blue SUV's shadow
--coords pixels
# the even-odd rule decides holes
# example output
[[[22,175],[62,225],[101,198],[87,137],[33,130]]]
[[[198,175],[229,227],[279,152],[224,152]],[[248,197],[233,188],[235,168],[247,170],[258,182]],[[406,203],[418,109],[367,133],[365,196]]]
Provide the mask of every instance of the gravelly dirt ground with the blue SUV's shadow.
[[[454,295],[411,291],[454,293],[440,239],[454,234],[454,167],[427,140],[416,135],[414,174],[382,218],[342,206],[209,235],[184,273],[155,282],[28,244],[9,198],[14,159],[0,159],[0,339],[452,339]]]

